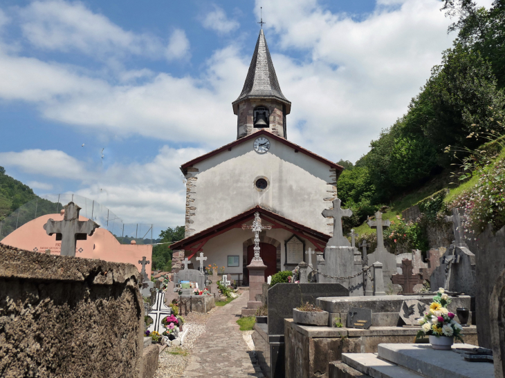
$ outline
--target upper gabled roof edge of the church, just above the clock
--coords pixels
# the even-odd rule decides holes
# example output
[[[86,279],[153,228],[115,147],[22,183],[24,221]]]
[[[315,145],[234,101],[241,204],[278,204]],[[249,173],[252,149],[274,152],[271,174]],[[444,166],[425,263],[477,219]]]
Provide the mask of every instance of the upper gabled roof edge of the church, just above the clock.
[[[186,162],[181,165],[181,171],[183,171],[184,174],[187,173],[187,168],[192,167],[194,164],[202,162],[203,160],[206,160],[208,158],[211,158],[214,155],[217,155],[218,153],[221,153],[223,151],[231,151],[232,147],[235,147],[241,143],[247,142],[248,140],[258,138],[260,135],[265,135],[268,138],[272,138],[273,140],[277,140],[277,142],[281,142],[282,144],[286,144],[286,146],[291,147],[292,149],[295,150],[295,152],[301,152],[304,153],[305,155],[310,156],[311,158],[315,160],[319,160],[320,162],[323,162],[324,164],[328,164],[329,167],[335,168],[337,170],[337,173],[341,172],[344,170],[344,167],[341,165],[332,162],[331,160],[327,160],[325,158],[322,158],[320,155],[317,155],[307,149],[304,149],[303,147],[300,147],[298,144],[294,144],[293,142],[290,142],[289,140],[286,140],[284,138],[281,138],[273,133],[270,133],[266,131],[265,129],[261,129],[261,131],[257,131],[256,133],[252,133],[250,135],[247,135],[244,138],[237,139],[234,142],[225,144],[223,147],[219,147],[219,149],[215,149],[214,151],[210,151],[208,153],[205,153],[205,155],[201,155],[198,158],[195,158],[193,160],[190,160],[189,162]],[[338,177],[338,176],[337,176]]]

